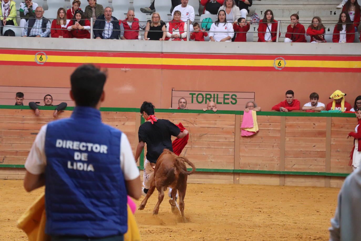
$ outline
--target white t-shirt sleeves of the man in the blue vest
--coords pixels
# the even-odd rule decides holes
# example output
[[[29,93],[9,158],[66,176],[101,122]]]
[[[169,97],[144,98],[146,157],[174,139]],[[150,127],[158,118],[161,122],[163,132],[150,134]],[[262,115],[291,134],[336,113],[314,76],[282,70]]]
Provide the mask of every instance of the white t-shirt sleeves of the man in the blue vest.
[[[43,125],[35,141],[32,144],[29,156],[25,162],[25,168],[28,172],[34,175],[39,175],[45,172],[46,156],[45,156],[45,134],[48,125]],[[120,139],[120,167],[126,181],[133,180],[139,177],[139,169],[135,164],[134,155],[130,147],[127,136],[122,133]]]

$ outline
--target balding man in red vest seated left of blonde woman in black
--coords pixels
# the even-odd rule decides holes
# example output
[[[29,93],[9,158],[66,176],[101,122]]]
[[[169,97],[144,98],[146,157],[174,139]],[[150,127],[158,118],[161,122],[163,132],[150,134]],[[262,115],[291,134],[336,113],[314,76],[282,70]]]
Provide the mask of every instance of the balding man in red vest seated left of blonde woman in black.
[[[127,18],[119,21],[120,25],[120,38],[121,39],[138,39],[139,27],[145,28],[146,23],[140,23],[138,18],[135,18],[133,10],[127,12]],[[138,31],[137,31],[138,30]]]

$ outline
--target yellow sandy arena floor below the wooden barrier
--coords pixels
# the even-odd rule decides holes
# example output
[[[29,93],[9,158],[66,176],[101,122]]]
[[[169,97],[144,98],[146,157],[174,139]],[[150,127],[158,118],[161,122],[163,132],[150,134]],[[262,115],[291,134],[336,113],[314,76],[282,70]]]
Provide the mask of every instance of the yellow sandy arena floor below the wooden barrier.
[[[16,221],[42,191],[26,193],[22,180],[0,180],[1,241],[27,240]],[[328,240],[338,192],[338,188],[188,184],[184,199],[188,223],[178,222],[166,197],[158,216],[153,216],[156,192],[135,215],[145,241]]]

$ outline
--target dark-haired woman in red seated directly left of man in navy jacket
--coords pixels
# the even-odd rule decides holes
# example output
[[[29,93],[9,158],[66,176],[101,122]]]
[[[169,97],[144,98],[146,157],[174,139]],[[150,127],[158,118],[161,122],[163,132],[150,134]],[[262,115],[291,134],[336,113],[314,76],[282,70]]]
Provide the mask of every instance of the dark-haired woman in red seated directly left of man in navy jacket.
[[[76,10],[73,19],[69,22],[68,31],[70,31],[70,38],[90,39],[90,22],[84,19],[82,10]]]

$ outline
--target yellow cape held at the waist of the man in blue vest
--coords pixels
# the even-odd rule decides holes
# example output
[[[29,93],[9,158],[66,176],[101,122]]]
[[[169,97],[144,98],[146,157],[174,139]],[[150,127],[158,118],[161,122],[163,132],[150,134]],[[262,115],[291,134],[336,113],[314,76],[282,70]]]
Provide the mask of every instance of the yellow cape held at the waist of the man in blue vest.
[[[134,215],[127,205],[128,231],[124,234],[125,241],[140,241],[140,233]],[[18,228],[22,229],[29,241],[50,241],[51,237],[45,233],[45,193],[40,195],[35,202],[21,215]]]

